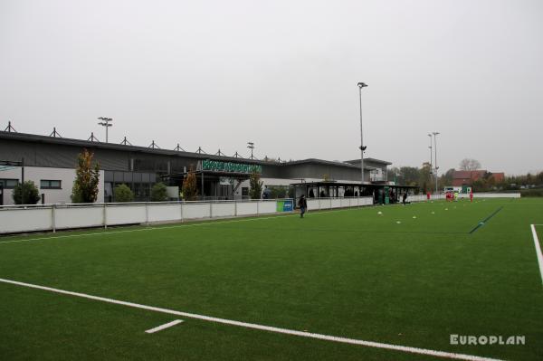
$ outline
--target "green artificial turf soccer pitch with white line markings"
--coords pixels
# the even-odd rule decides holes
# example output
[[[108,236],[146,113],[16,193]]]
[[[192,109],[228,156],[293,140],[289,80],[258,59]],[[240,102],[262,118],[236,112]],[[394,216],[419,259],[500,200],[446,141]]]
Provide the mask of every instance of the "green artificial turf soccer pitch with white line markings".
[[[541,199],[2,237],[0,359],[540,360],[530,224]]]

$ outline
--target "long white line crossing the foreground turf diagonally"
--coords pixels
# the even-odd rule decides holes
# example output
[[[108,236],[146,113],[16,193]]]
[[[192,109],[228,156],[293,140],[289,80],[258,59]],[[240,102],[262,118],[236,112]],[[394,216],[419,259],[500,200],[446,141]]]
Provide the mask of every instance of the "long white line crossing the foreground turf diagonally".
[[[436,357],[443,357],[443,358],[452,358],[452,359],[457,359],[457,360],[500,361],[499,359],[496,359],[496,358],[489,358],[489,357],[482,357],[482,356],[472,356],[472,355],[464,355],[464,354],[456,354],[456,353],[452,353],[452,352],[436,351],[436,350],[431,350],[431,349],[426,349],[426,348],[418,348],[418,347],[398,346],[398,345],[384,344],[384,343],[381,343],[381,342],[364,341],[364,340],[361,340],[361,339],[354,339],[354,338],[347,338],[347,337],[337,337],[337,336],[328,336],[328,335],[315,334],[315,333],[310,333],[310,332],[296,331],[296,330],[288,329],[288,328],[274,328],[274,327],[271,327],[271,326],[263,326],[263,325],[258,325],[258,324],[254,324],[254,323],[234,321],[232,319],[214,318],[214,317],[210,317],[210,316],[197,315],[195,313],[187,313],[187,312],[176,311],[174,309],[161,309],[161,308],[158,308],[158,307],[140,305],[138,303],[126,302],[126,301],[121,301],[121,300],[117,300],[117,299],[106,299],[104,297],[92,296],[92,295],[89,295],[89,294],[86,294],[86,293],[71,292],[69,290],[52,289],[51,287],[39,286],[39,285],[31,284],[31,283],[19,282],[19,281],[16,281],[16,280],[0,279],[0,282],[14,284],[14,285],[17,285],[17,286],[29,287],[31,289],[48,290],[48,291],[51,291],[51,292],[62,293],[64,295],[81,297],[83,299],[100,300],[102,302],[114,303],[114,304],[117,304],[117,305],[133,307],[133,308],[136,308],[136,309],[147,309],[149,311],[162,312],[162,313],[181,316],[181,317],[185,317],[185,318],[195,318],[195,319],[200,319],[200,320],[209,321],[209,322],[221,323],[221,324],[224,324],[224,325],[238,326],[238,327],[241,327],[241,328],[259,329],[259,330],[262,330],[262,331],[275,332],[275,333],[280,333],[280,334],[285,334],[285,335],[317,338],[317,339],[321,339],[321,340],[324,340],[324,341],[339,342],[339,343],[351,344],[351,345],[360,345],[360,346],[365,346],[365,347],[384,348],[384,349],[388,349],[388,350],[402,351],[402,352],[408,352],[408,353],[412,353],[412,354],[436,356]]]

